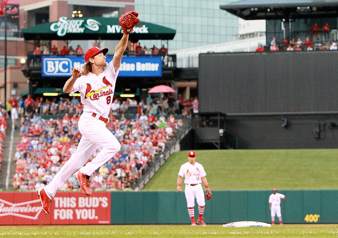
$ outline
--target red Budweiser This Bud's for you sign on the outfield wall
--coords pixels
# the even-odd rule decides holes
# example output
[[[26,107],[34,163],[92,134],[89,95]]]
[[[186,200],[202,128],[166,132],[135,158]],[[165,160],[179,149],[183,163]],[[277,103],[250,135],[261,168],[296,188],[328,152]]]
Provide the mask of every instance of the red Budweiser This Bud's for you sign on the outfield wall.
[[[0,225],[110,224],[110,192],[58,192],[42,210],[37,192],[0,192]]]

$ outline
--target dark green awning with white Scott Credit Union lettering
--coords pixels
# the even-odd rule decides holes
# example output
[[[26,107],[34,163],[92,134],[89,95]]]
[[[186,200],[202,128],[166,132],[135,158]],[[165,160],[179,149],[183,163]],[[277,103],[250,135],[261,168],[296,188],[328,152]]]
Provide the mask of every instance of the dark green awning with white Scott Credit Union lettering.
[[[141,22],[129,34],[132,42],[141,39],[173,39],[176,30],[149,23]],[[32,26],[23,30],[25,40],[88,40],[111,39],[119,40],[122,30],[118,18],[74,18],[60,17],[56,22],[48,22]]]

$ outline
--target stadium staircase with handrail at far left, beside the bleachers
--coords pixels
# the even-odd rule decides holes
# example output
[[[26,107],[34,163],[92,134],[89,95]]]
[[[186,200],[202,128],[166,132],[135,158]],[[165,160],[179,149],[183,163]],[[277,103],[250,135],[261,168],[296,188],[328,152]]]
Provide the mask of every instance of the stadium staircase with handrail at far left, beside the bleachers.
[[[19,122],[17,122],[17,125]],[[12,130],[12,122],[11,120],[7,120],[7,129],[5,136],[5,144],[2,152],[2,163],[1,163],[1,172],[0,172],[0,189],[6,189],[6,176],[7,176],[7,167],[8,167],[8,155],[10,153],[10,140],[11,140],[11,130]],[[20,127],[14,130],[13,133],[13,146],[12,146],[12,154],[11,154],[11,162],[9,168],[9,179],[8,179],[8,189],[13,189],[13,176],[16,170],[16,164],[14,160],[14,154],[17,151],[17,145],[20,140]]]

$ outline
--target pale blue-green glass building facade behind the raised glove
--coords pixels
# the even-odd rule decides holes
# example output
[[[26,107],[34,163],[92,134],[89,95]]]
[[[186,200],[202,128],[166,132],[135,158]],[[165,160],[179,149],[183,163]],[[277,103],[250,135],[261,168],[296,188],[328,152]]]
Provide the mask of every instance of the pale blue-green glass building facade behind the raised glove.
[[[176,30],[169,50],[179,50],[236,40],[238,18],[219,8],[230,0],[135,0],[141,21]],[[140,41],[151,48],[165,42]],[[165,44],[166,45],[166,44]]]

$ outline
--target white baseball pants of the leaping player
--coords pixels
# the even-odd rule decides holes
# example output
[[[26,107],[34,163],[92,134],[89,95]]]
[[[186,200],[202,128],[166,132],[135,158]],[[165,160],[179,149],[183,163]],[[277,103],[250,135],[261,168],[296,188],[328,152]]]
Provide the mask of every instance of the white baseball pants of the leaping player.
[[[105,123],[93,117],[92,114],[83,112],[80,116],[78,128],[82,137],[76,151],[45,187],[45,191],[50,199],[55,196],[66,180],[77,170],[80,170],[82,174],[92,176],[96,169],[105,164],[121,149],[120,142],[105,127]],[[94,154],[98,146],[101,146],[103,149],[91,162],[83,166]]]

